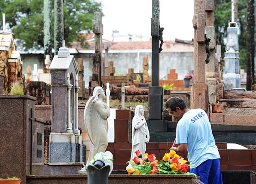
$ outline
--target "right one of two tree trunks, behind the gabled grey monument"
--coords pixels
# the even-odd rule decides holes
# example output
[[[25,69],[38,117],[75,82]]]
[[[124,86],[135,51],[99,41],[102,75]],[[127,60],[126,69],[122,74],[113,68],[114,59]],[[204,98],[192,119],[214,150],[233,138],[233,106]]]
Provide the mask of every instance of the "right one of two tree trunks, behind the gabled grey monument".
[[[63,0],[54,0],[54,51],[55,55],[64,40]]]

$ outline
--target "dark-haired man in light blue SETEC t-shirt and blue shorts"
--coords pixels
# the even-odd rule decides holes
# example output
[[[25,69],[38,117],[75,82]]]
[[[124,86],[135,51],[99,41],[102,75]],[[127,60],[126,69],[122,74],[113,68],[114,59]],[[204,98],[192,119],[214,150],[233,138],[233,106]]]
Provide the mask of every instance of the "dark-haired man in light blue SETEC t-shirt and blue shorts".
[[[188,109],[178,97],[171,97],[166,102],[167,111],[178,118],[176,144],[174,151],[188,151],[191,173],[200,176],[205,184],[222,184],[220,154],[213,137],[208,116],[202,109]]]

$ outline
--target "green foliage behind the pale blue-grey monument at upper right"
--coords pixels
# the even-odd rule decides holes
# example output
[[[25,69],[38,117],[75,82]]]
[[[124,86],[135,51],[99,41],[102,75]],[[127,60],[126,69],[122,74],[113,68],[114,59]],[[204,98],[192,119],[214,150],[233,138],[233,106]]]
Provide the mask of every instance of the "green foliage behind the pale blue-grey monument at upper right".
[[[222,57],[224,57],[228,23],[231,22],[231,0],[214,0],[214,26],[216,40],[220,41]],[[238,0],[238,42],[240,53],[240,67],[246,69],[246,24],[247,2]]]

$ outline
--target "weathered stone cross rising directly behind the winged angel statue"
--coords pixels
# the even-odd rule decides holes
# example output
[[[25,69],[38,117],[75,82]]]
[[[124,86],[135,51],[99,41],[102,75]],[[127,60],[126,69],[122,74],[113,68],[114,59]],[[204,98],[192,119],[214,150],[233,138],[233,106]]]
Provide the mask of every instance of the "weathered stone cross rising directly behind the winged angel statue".
[[[101,76],[102,76],[102,40],[103,35],[103,25],[101,23],[101,12],[95,11],[93,17],[93,33],[95,34],[95,53],[92,55],[92,81],[89,83],[90,94],[92,95],[92,90],[95,86],[102,86]]]

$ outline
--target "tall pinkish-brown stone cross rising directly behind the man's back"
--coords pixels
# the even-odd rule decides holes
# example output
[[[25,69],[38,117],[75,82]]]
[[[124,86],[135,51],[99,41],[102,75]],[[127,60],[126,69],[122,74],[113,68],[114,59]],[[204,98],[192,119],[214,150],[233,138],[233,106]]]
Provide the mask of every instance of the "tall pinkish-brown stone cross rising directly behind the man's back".
[[[191,109],[207,110],[207,84],[205,79],[205,0],[194,1],[194,83],[191,92]]]

